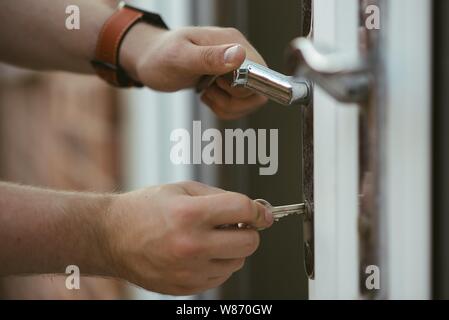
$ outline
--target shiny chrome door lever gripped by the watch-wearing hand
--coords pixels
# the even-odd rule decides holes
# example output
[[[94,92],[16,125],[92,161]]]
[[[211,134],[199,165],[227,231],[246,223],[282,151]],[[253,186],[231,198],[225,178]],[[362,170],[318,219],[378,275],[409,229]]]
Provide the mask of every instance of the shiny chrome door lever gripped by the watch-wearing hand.
[[[311,95],[308,81],[283,75],[251,60],[245,60],[237,70],[225,77],[232,78],[234,87],[251,89],[283,105],[307,103]],[[217,76],[203,77],[197,91],[211,86],[216,79]]]

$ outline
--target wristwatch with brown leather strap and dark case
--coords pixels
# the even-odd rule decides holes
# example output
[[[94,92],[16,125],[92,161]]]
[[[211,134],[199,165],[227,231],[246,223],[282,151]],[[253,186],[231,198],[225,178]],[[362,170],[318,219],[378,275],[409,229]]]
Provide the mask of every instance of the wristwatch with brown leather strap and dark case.
[[[131,79],[119,64],[120,47],[128,31],[138,22],[168,29],[161,16],[122,1],[117,11],[105,22],[98,36],[95,59],[91,61],[98,76],[116,87],[143,87]]]

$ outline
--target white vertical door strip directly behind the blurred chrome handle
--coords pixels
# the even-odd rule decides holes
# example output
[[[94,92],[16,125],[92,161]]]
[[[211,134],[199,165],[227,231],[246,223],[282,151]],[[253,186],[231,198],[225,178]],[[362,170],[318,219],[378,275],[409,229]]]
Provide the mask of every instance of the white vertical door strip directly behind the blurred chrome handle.
[[[358,1],[315,0],[314,41],[356,53]],[[358,298],[358,110],[315,88],[315,280],[311,299]]]

